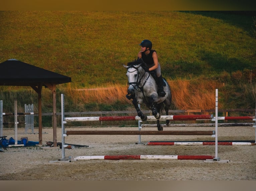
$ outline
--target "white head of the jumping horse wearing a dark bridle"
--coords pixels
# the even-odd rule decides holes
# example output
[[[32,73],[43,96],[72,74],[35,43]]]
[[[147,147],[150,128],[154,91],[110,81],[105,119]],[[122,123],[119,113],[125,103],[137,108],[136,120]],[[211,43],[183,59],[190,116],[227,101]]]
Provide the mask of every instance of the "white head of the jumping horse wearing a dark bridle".
[[[129,62],[126,65],[123,65],[127,68],[126,76],[128,78],[128,93],[134,94],[135,88],[138,87],[139,80],[140,80],[140,72],[139,67],[143,65],[144,62],[142,59],[137,59],[133,62]]]

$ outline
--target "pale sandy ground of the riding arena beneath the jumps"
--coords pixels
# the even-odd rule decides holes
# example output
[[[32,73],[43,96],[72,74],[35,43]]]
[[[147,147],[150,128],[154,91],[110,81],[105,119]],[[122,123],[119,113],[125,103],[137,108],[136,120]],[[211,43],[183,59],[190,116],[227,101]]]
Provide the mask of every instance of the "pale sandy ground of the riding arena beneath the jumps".
[[[143,128],[142,130],[153,130]],[[138,130],[137,127],[66,127],[66,130]],[[172,127],[164,130],[215,130],[215,127]],[[38,141],[38,134],[24,134]],[[35,132],[38,129],[35,128]],[[52,128],[43,128],[43,145],[8,147],[0,152],[0,180],[256,180],[256,146],[218,146],[218,156],[227,163],[202,160],[79,160],[58,161],[59,147],[45,147],[53,141]],[[255,140],[255,128],[219,127],[219,140]],[[7,139],[14,129],[4,129]],[[88,145],[65,149],[65,156],[92,155],[213,155],[215,146],[149,146],[148,141],[215,140],[209,135],[69,135],[68,144]],[[57,128],[61,142],[61,128]],[[57,162],[52,162],[57,161]]]

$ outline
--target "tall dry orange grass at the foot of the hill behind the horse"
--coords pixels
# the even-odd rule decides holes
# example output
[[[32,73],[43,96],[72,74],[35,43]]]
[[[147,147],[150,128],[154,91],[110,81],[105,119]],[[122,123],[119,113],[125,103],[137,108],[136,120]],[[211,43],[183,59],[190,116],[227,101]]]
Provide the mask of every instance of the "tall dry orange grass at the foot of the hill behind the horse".
[[[171,109],[214,109],[215,89],[222,84],[217,81],[191,81],[172,80],[168,81],[172,92],[172,103],[175,108]],[[112,104],[119,101],[121,104],[131,103],[125,95],[127,86],[108,84],[105,87],[93,89],[66,88],[64,94],[71,96],[76,105],[97,102]],[[66,96],[65,95],[65,96]],[[221,105],[220,105],[221,106]]]

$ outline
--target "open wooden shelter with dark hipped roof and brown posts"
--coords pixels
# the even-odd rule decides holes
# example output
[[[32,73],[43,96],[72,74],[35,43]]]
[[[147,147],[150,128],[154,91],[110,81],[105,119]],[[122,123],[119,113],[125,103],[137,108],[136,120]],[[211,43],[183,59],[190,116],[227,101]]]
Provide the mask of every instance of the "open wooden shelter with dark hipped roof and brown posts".
[[[0,63],[0,86],[30,86],[38,95],[39,144],[42,144],[42,87],[52,91],[53,98],[53,146],[57,146],[56,85],[71,82],[63,76],[16,59]]]

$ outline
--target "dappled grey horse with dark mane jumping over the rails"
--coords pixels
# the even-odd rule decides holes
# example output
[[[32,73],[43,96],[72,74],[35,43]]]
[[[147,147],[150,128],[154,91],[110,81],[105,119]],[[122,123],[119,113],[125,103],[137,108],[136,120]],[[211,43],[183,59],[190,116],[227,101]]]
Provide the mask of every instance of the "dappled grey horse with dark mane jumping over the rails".
[[[165,86],[165,96],[158,96],[159,88],[157,86],[156,80],[152,71],[148,71],[146,64],[141,58],[129,62],[123,66],[127,69],[126,76],[128,77],[128,94],[126,97],[128,99],[133,99],[132,103],[135,106],[138,116],[142,121],[147,120],[147,116],[143,114],[140,110],[138,104],[145,104],[147,108],[152,110],[152,114],[157,120],[157,129],[159,131],[163,130],[163,127],[160,125],[160,112],[165,109],[166,115],[168,115],[169,108],[171,106],[171,90],[167,81],[163,78]],[[145,70],[146,69],[146,70]],[[130,94],[130,96],[129,96]],[[169,120],[166,120],[166,125],[170,124]]]

